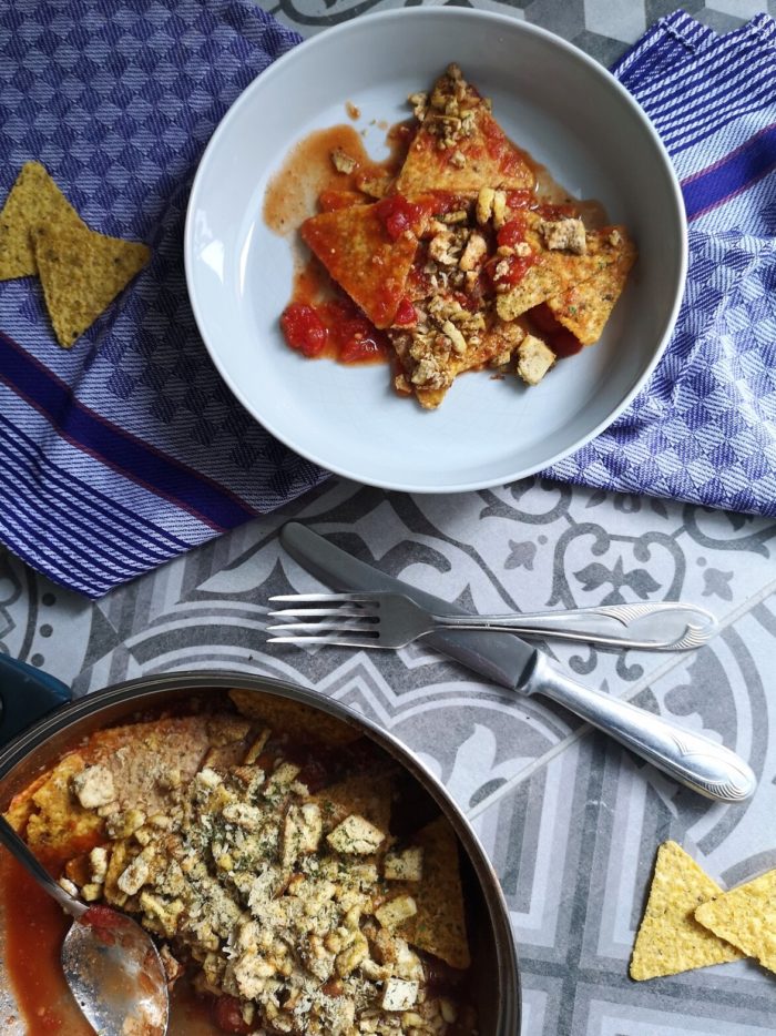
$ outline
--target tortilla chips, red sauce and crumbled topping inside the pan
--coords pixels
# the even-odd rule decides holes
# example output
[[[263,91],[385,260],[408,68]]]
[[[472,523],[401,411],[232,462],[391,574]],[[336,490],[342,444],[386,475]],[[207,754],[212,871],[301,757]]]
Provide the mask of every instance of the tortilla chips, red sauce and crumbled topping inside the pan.
[[[171,1033],[196,1019],[197,1034],[473,1036],[447,819],[353,728],[284,699],[231,697],[235,711],[98,731],[6,815],[69,892],[152,933]],[[47,1032],[85,1036],[60,989],[61,912],[3,866],[19,1007],[35,1023],[45,1003]]]

